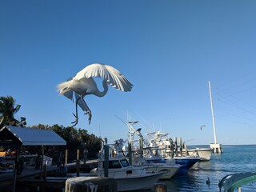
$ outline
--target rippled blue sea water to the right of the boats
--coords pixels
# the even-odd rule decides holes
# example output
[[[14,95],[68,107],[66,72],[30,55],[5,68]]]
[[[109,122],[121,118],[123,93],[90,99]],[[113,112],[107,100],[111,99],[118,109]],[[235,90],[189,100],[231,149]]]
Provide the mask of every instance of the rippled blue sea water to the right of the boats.
[[[222,149],[222,154],[212,154],[210,161],[197,162],[187,174],[177,174],[174,178],[161,182],[166,183],[168,192],[218,192],[218,183],[226,175],[256,170],[256,145],[222,146]],[[210,178],[210,185],[206,184],[207,178]],[[256,191],[256,183],[242,186],[242,192],[245,191]]]

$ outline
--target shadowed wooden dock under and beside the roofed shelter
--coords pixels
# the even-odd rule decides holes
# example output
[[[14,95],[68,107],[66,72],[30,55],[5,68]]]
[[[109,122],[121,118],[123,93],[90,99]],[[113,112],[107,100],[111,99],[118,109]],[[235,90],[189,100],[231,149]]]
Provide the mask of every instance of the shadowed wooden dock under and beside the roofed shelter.
[[[87,161],[86,164],[68,163],[65,165],[68,173],[77,173],[90,170],[98,165],[98,160]],[[58,170],[57,166],[44,166],[43,169],[36,170],[34,167],[26,167],[22,174],[17,175],[14,171],[0,174],[0,191],[23,191],[30,188],[51,189],[51,191],[62,191],[65,188],[66,178],[47,178],[54,176]]]

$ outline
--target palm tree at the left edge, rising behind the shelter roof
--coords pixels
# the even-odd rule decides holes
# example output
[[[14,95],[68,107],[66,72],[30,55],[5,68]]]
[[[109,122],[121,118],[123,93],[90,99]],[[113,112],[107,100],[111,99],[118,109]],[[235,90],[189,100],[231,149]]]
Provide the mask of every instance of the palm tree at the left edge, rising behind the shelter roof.
[[[0,97],[0,128],[4,125],[18,126],[20,122],[14,118],[21,105],[15,104],[15,99],[11,96]],[[24,121],[24,118],[22,118]]]

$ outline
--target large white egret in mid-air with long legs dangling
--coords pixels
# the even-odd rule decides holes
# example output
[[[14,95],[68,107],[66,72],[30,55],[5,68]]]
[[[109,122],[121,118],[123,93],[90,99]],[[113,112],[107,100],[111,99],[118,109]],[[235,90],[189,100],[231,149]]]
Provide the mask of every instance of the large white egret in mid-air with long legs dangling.
[[[103,78],[102,86],[103,91],[98,90],[98,86],[94,81],[93,77]],[[84,97],[87,94],[94,94],[98,97],[103,97],[108,91],[108,85],[114,87],[117,90],[130,91],[133,84],[131,84],[128,79],[121,74],[113,66],[108,66],[104,64],[94,63],[86,66],[83,70],[79,71],[73,78],[69,78],[66,82],[58,84],[59,94],[66,96],[73,100],[75,96],[75,120],[74,125],[78,124],[78,105],[83,111],[86,111],[89,118],[89,124],[91,121],[91,111],[87,106]]]

